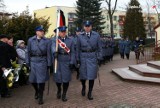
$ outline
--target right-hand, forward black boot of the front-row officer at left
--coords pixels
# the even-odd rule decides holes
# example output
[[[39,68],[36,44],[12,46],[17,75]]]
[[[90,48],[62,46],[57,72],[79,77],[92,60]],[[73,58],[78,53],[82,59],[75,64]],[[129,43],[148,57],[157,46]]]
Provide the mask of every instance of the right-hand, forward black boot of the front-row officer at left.
[[[38,104],[42,105],[43,102],[43,91],[44,91],[45,83],[39,84],[39,98],[38,98]]]

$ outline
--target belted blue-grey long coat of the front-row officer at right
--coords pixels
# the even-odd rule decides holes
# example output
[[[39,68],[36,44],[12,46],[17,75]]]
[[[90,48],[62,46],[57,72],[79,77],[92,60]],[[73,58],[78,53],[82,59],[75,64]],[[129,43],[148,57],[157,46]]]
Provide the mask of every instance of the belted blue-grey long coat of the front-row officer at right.
[[[78,36],[77,40],[77,60],[80,61],[80,79],[94,80],[97,78],[97,60],[102,59],[102,46],[100,36],[92,31],[90,38],[86,33]]]

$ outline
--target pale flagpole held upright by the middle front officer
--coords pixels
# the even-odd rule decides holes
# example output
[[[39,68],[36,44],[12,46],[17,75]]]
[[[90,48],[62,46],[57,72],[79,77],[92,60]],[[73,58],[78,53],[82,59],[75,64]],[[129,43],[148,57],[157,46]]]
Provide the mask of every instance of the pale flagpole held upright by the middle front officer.
[[[59,34],[59,23],[60,23],[60,9],[57,9],[57,30],[56,30],[56,53],[58,52],[58,34]],[[55,62],[54,62],[54,72],[57,72],[57,58],[55,58]]]

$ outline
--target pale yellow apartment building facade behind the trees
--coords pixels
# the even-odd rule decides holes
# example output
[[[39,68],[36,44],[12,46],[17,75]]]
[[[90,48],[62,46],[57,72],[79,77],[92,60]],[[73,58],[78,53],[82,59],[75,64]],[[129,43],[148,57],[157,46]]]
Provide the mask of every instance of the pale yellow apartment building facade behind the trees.
[[[53,30],[56,28],[56,22],[57,22],[57,9],[60,8],[66,17],[66,25],[69,30],[69,34],[72,34],[74,32],[74,29],[76,25],[74,24],[74,21],[76,20],[76,7],[65,7],[65,6],[53,6],[53,7],[46,7],[44,9],[39,9],[34,11],[34,17],[40,18],[50,18],[49,23],[50,27],[48,29],[48,32],[46,36],[50,37],[52,36]],[[107,10],[103,10],[102,15],[105,17],[104,21],[106,22],[104,24],[104,30],[103,34],[110,35],[110,21],[109,21],[109,15]],[[125,21],[125,11],[115,11],[113,15],[113,28],[114,28],[114,36],[115,38],[120,38],[123,36],[123,25]],[[154,26],[158,23],[158,17],[156,14],[150,14],[150,23],[148,23],[148,14],[144,13],[144,24],[146,28],[146,34],[147,37],[154,38],[155,33]]]

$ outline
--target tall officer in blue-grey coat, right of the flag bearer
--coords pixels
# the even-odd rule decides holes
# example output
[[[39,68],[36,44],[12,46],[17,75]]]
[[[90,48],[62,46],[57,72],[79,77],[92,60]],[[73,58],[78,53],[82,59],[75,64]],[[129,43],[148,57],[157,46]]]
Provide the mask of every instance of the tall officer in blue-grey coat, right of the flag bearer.
[[[80,64],[80,80],[82,83],[82,96],[85,96],[86,80],[89,80],[88,99],[93,100],[92,90],[94,80],[97,78],[97,61],[102,59],[100,35],[92,31],[90,21],[84,22],[84,32],[77,40],[77,63]]]

